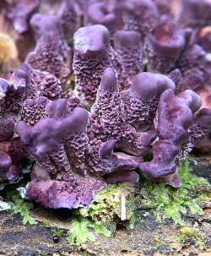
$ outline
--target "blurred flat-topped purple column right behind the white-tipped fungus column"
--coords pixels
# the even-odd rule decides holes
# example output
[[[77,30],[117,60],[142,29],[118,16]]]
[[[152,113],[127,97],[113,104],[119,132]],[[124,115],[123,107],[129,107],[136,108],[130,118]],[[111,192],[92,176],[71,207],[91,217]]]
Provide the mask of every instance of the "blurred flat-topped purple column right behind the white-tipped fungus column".
[[[143,46],[138,32],[118,30],[114,34],[114,45],[118,62],[121,63],[118,78],[122,90],[126,90],[133,82],[136,74],[143,71]]]

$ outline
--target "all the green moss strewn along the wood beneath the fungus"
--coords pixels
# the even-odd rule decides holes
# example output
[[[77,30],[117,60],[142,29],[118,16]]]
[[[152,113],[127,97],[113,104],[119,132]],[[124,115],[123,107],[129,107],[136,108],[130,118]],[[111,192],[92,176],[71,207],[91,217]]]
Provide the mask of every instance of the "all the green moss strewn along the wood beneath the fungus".
[[[181,163],[179,172],[182,180],[180,189],[149,182],[144,178],[141,178],[138,185],[111,184],[96,193],[95,202],[90,204],[89,208],[71,211],[73,217],[68,232],[54,228],[48,219],[43,221],[43,226],[51,229],[57,237],[68,237],[68,242],[76,246],[95,242],[95,232],[111,237],[120,222],[128,229],[133,229],[136,214],[140,209],[152,211],[158,221],[170,219],[184,226],[183,215],[186,215],[187,211],[197,215],[203,214],[200,204],[210,198],[210,184],[203,177],[197,177],[192,173],[188,161]],[[30,215],[33,204],[22,199],[17,193],[12,194],[10,199],[12,210],[23,217],[24,224],[37,223]],[[185,230],[181,229],[179,237],[182,238],[184,235]],[[154,242],[157,245],[162,243],[157,236],[154,237]],[[202,246],[200,240],[197,244]]]

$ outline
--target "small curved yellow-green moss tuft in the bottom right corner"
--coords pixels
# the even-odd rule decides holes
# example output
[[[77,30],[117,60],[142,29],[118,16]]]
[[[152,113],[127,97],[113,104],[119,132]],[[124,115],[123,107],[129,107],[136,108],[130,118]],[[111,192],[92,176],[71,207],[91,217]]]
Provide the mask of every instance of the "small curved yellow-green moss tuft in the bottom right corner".
[[[204,239],[201,237],[201,235],[188,226],[182,226],[180,229],[179,235],[176,237],[176,242],[184,243],[187,241],[187,239],[192,239],[194,242],[196,242],[196,245],[199,249],[204,248]]]

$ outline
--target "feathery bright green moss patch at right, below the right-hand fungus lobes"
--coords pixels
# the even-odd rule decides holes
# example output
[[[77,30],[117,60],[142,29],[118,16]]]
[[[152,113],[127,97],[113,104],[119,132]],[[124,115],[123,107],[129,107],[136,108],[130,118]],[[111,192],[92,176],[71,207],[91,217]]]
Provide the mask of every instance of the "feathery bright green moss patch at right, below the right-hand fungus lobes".
[[[154,209],[154,214],[160,221],[169,218],[182,224],[182,215],[185,215],[187,210],[192,214],[203,214],[198,192],[202,187],[209,186],[208,181],[203,177],[195,176],[188,161],[181,163],[179,172],[182,180],[180,189],[145,180],[141,184],[143,208]]]

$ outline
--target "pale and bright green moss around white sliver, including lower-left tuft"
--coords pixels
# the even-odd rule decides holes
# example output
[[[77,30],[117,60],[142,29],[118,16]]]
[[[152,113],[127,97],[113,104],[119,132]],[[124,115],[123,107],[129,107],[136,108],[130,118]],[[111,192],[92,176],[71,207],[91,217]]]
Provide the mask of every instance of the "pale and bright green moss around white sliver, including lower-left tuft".
[[[137,207],[135,189],[131,183],[112,184],[96,193],[95,202],[90,204],[89,208],[74,211],[75,217],[71,221],[68,242],[76,246],[88,241],[95,242],[95,232],[111,237],[116,231],[116,224],[122,218],[122,207],[126,209],[125,220],[133,220],[132,225],[135,220],[134,210]]]

